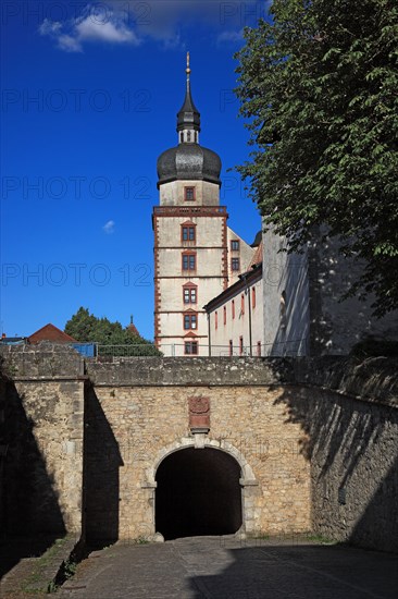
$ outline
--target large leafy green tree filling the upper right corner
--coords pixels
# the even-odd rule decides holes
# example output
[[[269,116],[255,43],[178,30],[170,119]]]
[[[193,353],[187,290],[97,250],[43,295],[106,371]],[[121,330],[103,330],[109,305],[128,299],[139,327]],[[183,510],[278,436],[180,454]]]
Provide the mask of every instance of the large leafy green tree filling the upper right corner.
[[[236,94],[251,160],[237,170],[265,228],[300,249],[315,227],[365,259],[351,293],[398,307],[398,4],[274,0],[246,28]]]

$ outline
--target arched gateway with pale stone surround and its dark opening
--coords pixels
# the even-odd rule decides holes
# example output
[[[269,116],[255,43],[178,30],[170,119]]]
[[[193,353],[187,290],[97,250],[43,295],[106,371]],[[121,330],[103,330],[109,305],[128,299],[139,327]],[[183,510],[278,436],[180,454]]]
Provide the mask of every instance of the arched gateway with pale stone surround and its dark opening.
[[[258,482],[242,454],[226,441],[176,441],[158,454],[147,477],[145,486],[154,491],[152,530],[166,540],[254,529]]]

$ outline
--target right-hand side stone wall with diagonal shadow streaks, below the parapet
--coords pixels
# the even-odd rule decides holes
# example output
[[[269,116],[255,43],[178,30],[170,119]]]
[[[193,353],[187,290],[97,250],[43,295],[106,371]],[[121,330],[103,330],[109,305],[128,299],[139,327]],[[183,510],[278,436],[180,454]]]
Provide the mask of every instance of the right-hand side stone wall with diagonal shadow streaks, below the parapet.
[[[398,551],[398,409],[314,392],[309,413],[313,529]]]

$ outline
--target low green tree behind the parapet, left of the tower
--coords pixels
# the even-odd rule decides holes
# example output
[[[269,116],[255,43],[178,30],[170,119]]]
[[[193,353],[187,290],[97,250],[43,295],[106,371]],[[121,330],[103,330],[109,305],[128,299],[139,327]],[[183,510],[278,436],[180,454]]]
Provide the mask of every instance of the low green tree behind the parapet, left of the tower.
[[[66,322],[65,333],[82,343],[96,342],[102,346],[121,346],[109,350],[109,353],[113,355],[161,355],[153,343],[134,334],[128,327],[123,328],[120,322],[111,322],[104,317],[97,318],[83,307],[78,308],[77,313]],[[101,347],[101,354],[107,354],[107,350]]]

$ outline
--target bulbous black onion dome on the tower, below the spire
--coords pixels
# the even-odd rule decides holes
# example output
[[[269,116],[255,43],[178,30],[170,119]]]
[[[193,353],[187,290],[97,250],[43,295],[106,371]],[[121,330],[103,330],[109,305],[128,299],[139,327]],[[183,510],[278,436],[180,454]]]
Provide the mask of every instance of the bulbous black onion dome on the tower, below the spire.
[[[215,151],[199,144],[179,144],[158,158],[158,187],[161,183],[184,179],[221,185],[220,172],[221,158]]]

